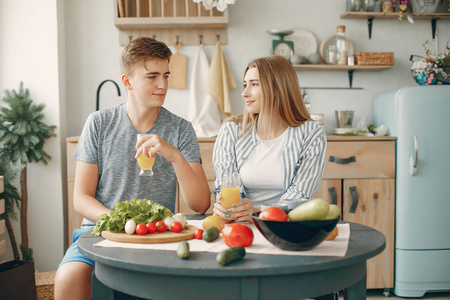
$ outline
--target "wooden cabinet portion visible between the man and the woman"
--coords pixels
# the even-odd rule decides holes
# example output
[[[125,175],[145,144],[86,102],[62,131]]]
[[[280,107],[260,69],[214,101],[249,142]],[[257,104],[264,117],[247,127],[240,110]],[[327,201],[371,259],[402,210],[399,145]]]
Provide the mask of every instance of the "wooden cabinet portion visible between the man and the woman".
[[[214,204],[214,170],[212,164],[212,152],[214,148],[215,138],[200,138],[198,143],[200,145],[200,155],[202,156],[203,170],[205,171],[206,179],[208,180],[211,205],[206,213],[213,212]],[[180,192],[177,192],[177,202],[175,206],[176,212],[182,212],[184,214],[195,214],[183,200],[183,196]]]

